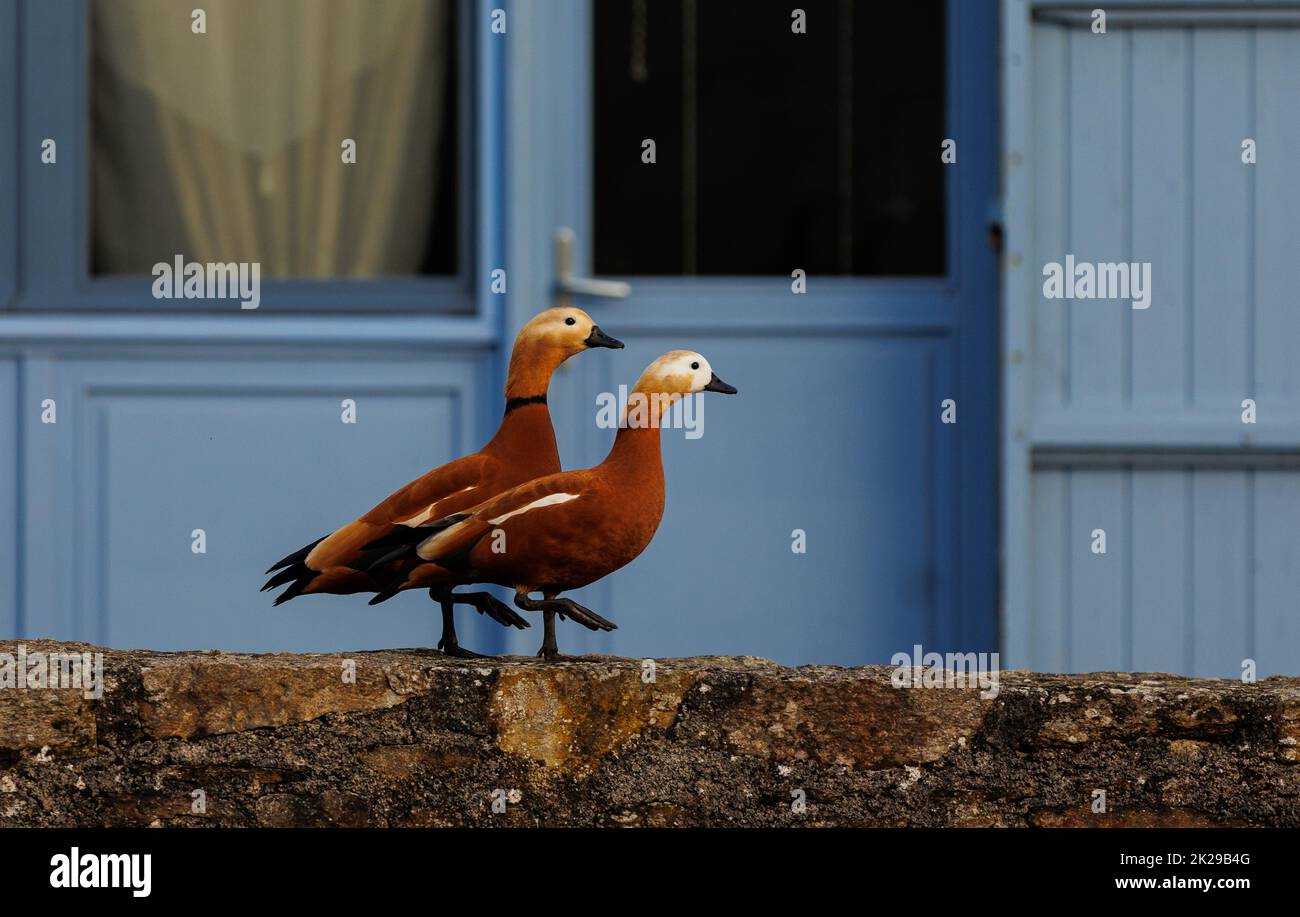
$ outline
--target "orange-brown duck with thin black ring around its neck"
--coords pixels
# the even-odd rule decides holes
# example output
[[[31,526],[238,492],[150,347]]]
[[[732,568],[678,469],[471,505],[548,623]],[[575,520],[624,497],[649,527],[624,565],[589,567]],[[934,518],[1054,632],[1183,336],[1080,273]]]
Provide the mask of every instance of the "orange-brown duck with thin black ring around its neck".
[[[620,349],[623,343],[578,308],[551,308],[534,316],[515,338],[506,379],[506,412],[491,440],[477,453],[417,477],[359,519],[272,565],[266,572],[280,572],[266,581],[263,592],[287,584],[276,605],[298,596],[378,592],[402,572],[403,563],[411,568],[417,562],[376,565],[370,545],[395,531],[411,531],[558,472],[559,449],[546,392],[564,360],[592,347]],[[454,604],[472,605],[504,627],[528,627],[514,609],[486,592],[452,593],[450,587],[430,587],[429,596],[442,607],[438,648],[448,656],[478,656],[460,646],[456,639]]]

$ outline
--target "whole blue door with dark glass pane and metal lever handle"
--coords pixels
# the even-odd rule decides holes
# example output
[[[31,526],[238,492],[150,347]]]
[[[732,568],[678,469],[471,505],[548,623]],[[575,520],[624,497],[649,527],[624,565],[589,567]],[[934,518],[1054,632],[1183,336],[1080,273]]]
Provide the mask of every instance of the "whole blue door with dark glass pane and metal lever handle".
[[[576,594],[619,630],[562,650],[996,649],[993,4],[540,7],[511,21],[511,320],[569,259],[630,286],[573,294],[628,349],[552,386],[566,467],[666,350],[740,389],[663,432],[656,538]]]

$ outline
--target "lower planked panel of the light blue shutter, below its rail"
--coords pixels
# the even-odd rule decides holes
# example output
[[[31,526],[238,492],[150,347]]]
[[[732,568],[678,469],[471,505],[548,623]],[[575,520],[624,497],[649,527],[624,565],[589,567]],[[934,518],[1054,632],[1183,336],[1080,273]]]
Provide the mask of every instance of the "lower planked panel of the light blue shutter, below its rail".
[[[1040,471],[1032,652],[1061,671],[1296,667],[1300,475]],[[1092,550],[1105,528],[1106,553]]]

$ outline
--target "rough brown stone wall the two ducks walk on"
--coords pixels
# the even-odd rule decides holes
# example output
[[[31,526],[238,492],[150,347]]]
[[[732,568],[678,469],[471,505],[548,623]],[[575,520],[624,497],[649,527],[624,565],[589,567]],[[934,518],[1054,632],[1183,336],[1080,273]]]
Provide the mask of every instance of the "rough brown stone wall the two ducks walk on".
[[[1300,826],[1297,678],[1002,672],[989,697],[887,666],[433,650],[103,670],[100,698],[0,688],[0,826]]]

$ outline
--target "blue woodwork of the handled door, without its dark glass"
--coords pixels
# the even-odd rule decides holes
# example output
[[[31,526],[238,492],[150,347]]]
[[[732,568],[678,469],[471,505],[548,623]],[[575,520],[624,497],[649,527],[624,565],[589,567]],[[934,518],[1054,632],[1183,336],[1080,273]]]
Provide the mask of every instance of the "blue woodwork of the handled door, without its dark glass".
[[[949,272],[940,280],[630,278],[627,302],[586,300],[628,349],[572,360],[552,384],[567,467],[603,458],[594,398],[630,385],[653,356],[692,347],[740,386],[706,395],[706,432],[664,432],[668,506],[655,541],[577,593],[619,622],[566,628],[572,650],[757,653],[783,662],[888,661],[914,643],[994,649],[994,8],[950,4],[949,125],[963,166],[948,174]],[[588,3],[524,7],[512,40],[511,163],[525,295],[554,280],[550,239],[575,229],[589,265]],[[564,137],[563,144],[549,138]],[[554,150],[540,155],[540,150]],[[542,185],[534,179],[543,177]],[[517,212],[516,212],[517,215]],[[520,320],[526,307],[512,308]],[[734,379],[733,379],[734,377]],[[959,423],[939,423],[956,398]],[[790,550],[792,531],[809,553]],[[532,652],[533,635],[511,646]]]

